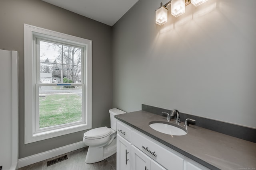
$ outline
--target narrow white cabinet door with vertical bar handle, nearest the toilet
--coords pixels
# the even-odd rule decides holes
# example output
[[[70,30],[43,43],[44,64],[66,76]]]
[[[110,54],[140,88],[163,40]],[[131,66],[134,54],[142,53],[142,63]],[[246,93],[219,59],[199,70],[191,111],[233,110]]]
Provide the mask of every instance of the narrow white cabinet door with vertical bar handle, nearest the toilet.
[[[116,139],[116,169],[130,170],[131,168],[131,143],[120,135]]]

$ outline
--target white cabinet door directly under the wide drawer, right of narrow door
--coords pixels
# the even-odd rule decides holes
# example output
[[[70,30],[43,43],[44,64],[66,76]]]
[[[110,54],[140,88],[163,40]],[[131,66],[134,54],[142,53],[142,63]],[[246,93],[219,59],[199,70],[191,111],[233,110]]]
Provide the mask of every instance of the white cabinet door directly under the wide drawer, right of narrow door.
[[[150,170],[150,157],[132,145],[132,170]]]

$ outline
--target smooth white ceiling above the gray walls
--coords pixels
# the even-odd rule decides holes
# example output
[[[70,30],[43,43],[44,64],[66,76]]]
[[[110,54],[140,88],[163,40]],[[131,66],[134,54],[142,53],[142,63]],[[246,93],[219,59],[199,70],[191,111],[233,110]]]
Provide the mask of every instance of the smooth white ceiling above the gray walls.
[[[42,0],[107,25],[114,25],[138,0]]]

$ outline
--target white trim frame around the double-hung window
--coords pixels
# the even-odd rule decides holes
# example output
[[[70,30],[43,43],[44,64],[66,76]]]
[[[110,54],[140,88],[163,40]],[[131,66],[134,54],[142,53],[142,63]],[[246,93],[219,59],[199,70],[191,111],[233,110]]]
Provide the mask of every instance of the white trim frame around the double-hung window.
[[[70,125],[68,127],[62,127],[59,129],[43,131],[36,133],[34,129],[34,100],[35,100],[35,86],[34,86],[34,62],[35,53],[33,50],[34,35],[45,35],[46,37],[54,37],[54,39],[65,39],[70,42],[86,45],[86,61],[84,69],[86,69],[86,80],[85,84],[85,115],[86,123],[81,123],[79,125]],[[75,37],[72,35],[67,35],[64,33],[59,33],[56,31],[51,31],[48,29],[43,29],[40,27],[35,27],[32,25],[24,24],[24,111],[25,111],[25,137],[24,143],[32,143],[36,141],[41,141],[44,139],[49,139],[52,137],[58,137],[61,135],[66,135],[69,133],[74,133],[78,131],[83,131],[92,128],[92,41],[88,39],[83,39],[80,37]]]

